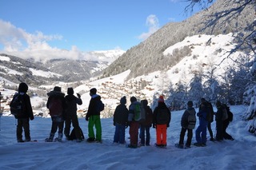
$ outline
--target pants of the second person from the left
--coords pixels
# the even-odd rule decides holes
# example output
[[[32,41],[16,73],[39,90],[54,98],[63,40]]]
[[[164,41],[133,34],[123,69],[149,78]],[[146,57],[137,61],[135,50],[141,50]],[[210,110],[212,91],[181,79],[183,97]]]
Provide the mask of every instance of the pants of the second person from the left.
[[[54,138],[55,132],[58,130],[58,139],[62,139],[63,136],[63,128],[64,128],[64,121],[62,117],[51,117],[51,130],[50,130],[50,140]]]

